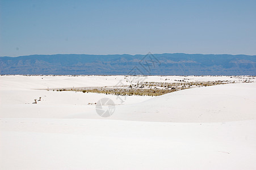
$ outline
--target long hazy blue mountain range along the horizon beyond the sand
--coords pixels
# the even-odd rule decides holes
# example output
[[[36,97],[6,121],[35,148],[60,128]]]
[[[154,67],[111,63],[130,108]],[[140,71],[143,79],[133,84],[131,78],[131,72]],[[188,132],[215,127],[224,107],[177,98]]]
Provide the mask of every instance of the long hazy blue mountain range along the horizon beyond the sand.
[[[256,75],[256,56],[229,54],[87,55],[0,57],[0,74]]]

